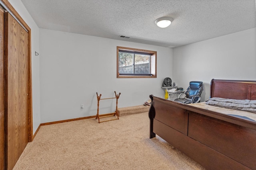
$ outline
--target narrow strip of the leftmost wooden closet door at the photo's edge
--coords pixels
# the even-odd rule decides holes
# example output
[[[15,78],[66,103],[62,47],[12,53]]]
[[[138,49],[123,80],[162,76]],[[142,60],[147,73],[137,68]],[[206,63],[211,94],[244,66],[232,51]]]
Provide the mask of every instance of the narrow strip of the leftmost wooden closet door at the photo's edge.
[[[4,169],[4,11],[0,8],[0,170]]]

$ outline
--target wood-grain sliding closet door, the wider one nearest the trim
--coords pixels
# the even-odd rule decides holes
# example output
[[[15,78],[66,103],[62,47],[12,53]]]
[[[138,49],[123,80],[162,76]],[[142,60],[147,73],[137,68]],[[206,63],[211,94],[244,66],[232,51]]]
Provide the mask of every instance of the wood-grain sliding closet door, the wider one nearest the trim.
[[[5,168],[11,170],[28,144],[29,35],[4,16]]]

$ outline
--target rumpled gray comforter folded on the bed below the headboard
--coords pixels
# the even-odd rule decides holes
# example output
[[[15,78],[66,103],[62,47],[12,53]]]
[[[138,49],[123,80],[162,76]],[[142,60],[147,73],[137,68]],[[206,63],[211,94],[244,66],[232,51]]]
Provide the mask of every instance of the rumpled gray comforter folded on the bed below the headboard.
[[[206,100],[205,103],[208,105],[225,107],[228,109],[236,109],[256,113],[256,100],[210,98]]]

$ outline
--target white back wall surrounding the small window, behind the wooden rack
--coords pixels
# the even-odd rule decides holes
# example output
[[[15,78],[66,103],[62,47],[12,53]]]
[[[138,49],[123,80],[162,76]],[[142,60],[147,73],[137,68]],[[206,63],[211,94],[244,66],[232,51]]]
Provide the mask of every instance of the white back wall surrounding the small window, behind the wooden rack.
[[[41,121],[96,115],[101,98],[121,93],[118,107],[142,105],[164,96],[172,77],[172,49],[75,33],[40,29]],[[157,78],[116,78],[116,46],[157,51]],[[80,105],[84,104],[84,109]],[[100,101],[100,114],[115,110],[115,99]]]

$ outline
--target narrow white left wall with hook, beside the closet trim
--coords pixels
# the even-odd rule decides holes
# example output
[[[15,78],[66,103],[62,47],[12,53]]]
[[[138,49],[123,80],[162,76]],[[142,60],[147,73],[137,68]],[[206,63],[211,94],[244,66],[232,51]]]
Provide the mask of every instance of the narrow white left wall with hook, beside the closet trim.
[[[32,107],[33,107],[33,134],[39,127],[40,120],[40,82],[39,82],[39,57],[35,56],[35,51],[39,52],[39,28],[26,10],[20,0],[8,0],[22,19],[31,29],[31,62],[32,62]]]

